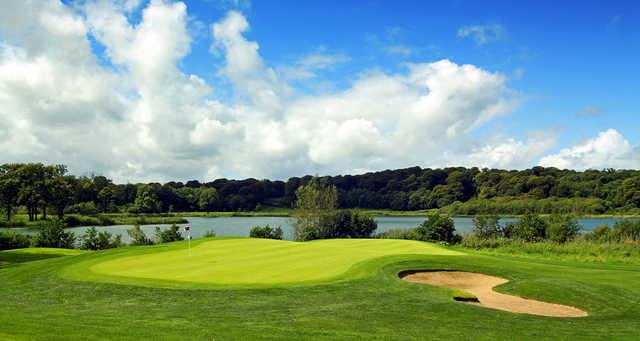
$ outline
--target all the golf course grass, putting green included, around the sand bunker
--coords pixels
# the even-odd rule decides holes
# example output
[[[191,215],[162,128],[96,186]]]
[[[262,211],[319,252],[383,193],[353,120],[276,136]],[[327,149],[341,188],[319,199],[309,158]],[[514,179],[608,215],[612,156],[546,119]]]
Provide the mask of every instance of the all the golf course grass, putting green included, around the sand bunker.
[[[495,276],[493,290],[583,317],[511,313],[411,283]],[[205,238],[105,251],[0,252],[0,339],[634,339],[637,265],[487,255],[392,239]],[[482,300],[482,299],[481,299]],[[518,325],[518,328],[513,328]]]

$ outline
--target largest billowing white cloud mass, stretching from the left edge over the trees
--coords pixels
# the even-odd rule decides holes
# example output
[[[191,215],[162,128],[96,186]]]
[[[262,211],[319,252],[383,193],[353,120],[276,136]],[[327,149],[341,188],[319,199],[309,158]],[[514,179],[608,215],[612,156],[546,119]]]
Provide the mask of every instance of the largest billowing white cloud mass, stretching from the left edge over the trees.
[[[548,148],[532,137],[474,140],[476,128],[518,105],[505,76],[474,65],[445,59],[397,73],[363,70],[339,91],[296,91],[246,38],[250,23],[236,11],[211,25],[212,49],[223,58],[218,74],[232,92],[214,99],[217,89],[179,67],[191,51],[187,7],[140,7],[0,4],[1,161],[67,163],[116,181],[209,180],[525,166]],[[139,22],[131,11],[141,11]],[[318,70],[347,60],[316,51],[289,67],[313,82]]]

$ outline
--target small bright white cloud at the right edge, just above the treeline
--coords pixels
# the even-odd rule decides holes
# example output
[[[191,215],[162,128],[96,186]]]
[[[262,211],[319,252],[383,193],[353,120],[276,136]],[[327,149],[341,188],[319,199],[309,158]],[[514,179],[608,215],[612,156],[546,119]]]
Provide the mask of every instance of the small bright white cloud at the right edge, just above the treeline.
[[[541,166],[569,169],[639,168],[640,153],[617,130],[608,129],[598,136],[557,154],[543,157]]]

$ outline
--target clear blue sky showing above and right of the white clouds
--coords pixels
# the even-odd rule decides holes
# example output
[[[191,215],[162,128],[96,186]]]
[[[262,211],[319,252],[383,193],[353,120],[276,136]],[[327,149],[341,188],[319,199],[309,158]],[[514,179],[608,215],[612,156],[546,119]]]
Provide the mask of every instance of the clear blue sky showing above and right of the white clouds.
[[[188,6],[203,22],[229,8],[211,1]],[[640,142],[638,2],[255,1],[239,7],[251,21],[247,37],[260,42],[268,63],[291,61],[320,47],[344,53],[352,60],[326,77],[347,86],[365,69],[401,71],[403,63],[448,58],[512,78],[509,84],[524,103],[495,122],[509,132],[557,128],[560,145],[566,145],[605,125]],[[479,45],[457,35],[470,25],[500,25],[504,32]],[[210,44],[205,36],[194,46],[186,71],[211,73]],[[411,53],[388,53],[386,45]],[[601,113],[579,115],[587,107]]]

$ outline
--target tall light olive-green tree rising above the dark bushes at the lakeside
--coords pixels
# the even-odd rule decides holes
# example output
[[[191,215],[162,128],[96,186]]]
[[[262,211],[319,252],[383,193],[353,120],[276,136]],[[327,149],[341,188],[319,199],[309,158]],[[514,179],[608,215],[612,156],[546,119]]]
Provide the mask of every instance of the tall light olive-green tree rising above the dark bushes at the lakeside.
[[[330,235],[324,223],[338,207],[338,191],[325,180],[312,178],[296,190],[293,234],[295,240],[325,238]]]

